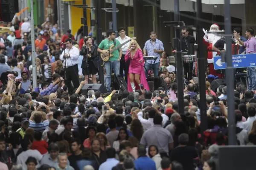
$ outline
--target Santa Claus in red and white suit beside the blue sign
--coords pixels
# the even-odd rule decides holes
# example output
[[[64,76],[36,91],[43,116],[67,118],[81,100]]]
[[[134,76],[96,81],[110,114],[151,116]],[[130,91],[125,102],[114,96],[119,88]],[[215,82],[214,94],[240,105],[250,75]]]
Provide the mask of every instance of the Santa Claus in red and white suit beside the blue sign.
[[[212,24],[210,31],[211,32],[215,32],[215,31],[219,31],[220,30],[220,26],[218,26],[218,24],[214,23]],[[212,51],[212,45],[214,45],[219,39],[221,39],[220,36],[215,35],[215,34],[206,34],[204,35],[204,44],[207,45],[207,51],[208,51],[208,55],[207,55],[207,62],[209,63],[209,69],[210,69],[210,74],[217,76],[217,72],[214,70],[214,66],[213,66],[213,58],[214,56],[216,56],[218,54],[218,52],[216,51]]]

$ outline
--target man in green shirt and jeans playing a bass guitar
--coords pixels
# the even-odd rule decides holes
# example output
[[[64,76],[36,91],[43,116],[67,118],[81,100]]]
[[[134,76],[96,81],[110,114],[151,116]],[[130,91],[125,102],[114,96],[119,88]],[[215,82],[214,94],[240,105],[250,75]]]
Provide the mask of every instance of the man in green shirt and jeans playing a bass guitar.
[[[108,51],[105,50],[109,50],[109,47],[111,45],[114,45],[113,40],[115,40],[116,38],[116,32],[113,30],[108,30],[107,31],[107,36],[108,38],[103,40],[99,46],[98,46],[98,51],[102,54],[104,54],[105,56],[108,55]],[[120,42],[118,40],[116,40],[116,45],[115,47],[117,47],[118,45],[120,45]],[[114,47],[113,47],[114,48]],[[122,48],[118,48],[116,51],[113,51],[111,53],[113,55],[113,57],[110,57],[109,61],[105,62],[105,69],[106,69],[106,89],[107,91],[111,91],[111,73],[112,73],[112,69],[114,70],[114,74],[119,75],[120,72],[120,60],[122,58]]]

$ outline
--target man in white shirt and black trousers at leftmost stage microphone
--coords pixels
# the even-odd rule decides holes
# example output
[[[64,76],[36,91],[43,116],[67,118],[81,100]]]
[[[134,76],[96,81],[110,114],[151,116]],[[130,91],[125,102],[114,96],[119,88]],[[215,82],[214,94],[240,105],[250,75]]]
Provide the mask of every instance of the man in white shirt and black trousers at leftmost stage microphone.
[[[73,42],[70,38],[66,40],[67,48],[62,51],[61,61],[63,61],[64,67],[66,65],[66,80],[65,84],[68,89],[71,88],[71,80],[74,88],[79,87],[79,74],[78,74],[78,62],[79,62],[79,49],[73,46]]]

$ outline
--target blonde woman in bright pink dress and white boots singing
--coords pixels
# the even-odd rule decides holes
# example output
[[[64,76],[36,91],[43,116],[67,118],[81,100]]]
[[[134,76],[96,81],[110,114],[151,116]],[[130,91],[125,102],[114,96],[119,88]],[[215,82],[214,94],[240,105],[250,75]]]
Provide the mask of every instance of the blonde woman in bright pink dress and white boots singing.
[[[143,85],[144,89],[149,90],[148,82],[144,72],[144,59],[140,45],[135,40],[131,40],[129,50],[125,54],[125,62],[130,59],[128,71],[128,91],[140,89]]]

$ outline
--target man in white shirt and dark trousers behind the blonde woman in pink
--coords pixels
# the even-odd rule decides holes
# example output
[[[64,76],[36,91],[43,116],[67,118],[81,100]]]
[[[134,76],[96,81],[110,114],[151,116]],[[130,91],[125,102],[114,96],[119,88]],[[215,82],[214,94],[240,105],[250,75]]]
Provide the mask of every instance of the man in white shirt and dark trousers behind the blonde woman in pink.
[[[116,40],[119,40],[120,44],[122,44],[123,42],[131,39],[130,37],[125,35],[125,28],[124,27],[120,27],[118,29],[118,34],[119,34],[119,37],[117,37]],[[130,60],[125,62],[125,54],[128,51],[129,45],[130,45],[130,43],[126,43],[125,45],[122,46],[122,59],[120,61],[120,75],[123,75],[123,71],[125,71],[125,80],[126,80],[126,82],[127,82],[127,74],[128,74]]]

